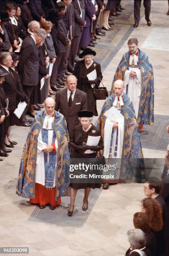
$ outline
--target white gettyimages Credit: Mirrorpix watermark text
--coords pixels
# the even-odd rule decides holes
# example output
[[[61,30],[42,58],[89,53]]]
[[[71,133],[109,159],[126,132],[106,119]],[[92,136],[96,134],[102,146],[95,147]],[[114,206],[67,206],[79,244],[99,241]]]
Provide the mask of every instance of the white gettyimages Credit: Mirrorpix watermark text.
[[[114,179],[114,175],[106,174],[104,172],[107,171],[114,171],[116,170],[116,164],[85,164],[85,163],[78,163],[78,164],[70,164],[69,171],[76,172],[70,173],[70,178],[78,178],[78,179]],[[77,174],[77,171],[80,174]],[[93,171],[102,171],[102,174],[93,173]],[[84,172],[84,173],[83,173]],[[91,173],[89,173],[91,172]]]

